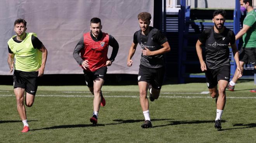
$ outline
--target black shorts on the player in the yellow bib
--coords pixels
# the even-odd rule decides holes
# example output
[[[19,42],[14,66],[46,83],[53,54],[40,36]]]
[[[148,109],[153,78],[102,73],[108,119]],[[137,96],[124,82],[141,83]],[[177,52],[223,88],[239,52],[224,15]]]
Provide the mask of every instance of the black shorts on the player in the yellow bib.
[[[14,70],[13,87],[24,88],[27,93],[36,95],[38,86],[38,71],[24,72]]]

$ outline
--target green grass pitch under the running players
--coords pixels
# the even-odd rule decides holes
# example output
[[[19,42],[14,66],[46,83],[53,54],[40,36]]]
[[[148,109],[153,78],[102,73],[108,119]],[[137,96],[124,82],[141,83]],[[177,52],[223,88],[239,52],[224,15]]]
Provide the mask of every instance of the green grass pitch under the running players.
[[[227,91],[222,130],[214,128],[215,99],[205,83],[164,85],[149,103],[153,128],[140,128],[144,116],[138,86],[103,86],[106,106],[92,126],[93,96],[86,86],[39,86],[35,103],[26,107],[30,130],[21,133],[12,86],[0,86],[0,142],[256,142],[254,83],[240,82]]]

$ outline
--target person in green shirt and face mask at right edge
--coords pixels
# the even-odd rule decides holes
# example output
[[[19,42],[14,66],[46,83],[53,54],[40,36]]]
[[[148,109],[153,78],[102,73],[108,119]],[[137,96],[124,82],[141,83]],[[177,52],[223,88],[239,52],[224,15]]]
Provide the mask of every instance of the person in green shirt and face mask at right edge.
[[[240,0],[240,5],[242,12],[247,11],[243,28],[235,35],[235,40],[242,37],[244,42],[239,53],[239,64],[243,71],[245,63],[251,63],[254,69],[256,68],[256,12],[253,10],[252,0]],[[236,70],[232,81],[228,83],[227,89],[229,91],[234,91],[238,74],[239,72]],[[251,90],[251,92],[256,93],[256,89]]]

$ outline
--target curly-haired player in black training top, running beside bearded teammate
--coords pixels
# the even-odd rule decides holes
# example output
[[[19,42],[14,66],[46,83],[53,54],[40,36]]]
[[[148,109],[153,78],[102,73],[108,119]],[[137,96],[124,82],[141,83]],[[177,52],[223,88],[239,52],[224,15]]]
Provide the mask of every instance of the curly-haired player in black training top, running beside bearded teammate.
[[[140,69],[138,72],[138,86],[140,89],[140,105],[145,117],[142,128],[152,127],[149,117],[149,101],[147,99],[147,89],[149,89],[149,99],[154,101],[159,97],[164,78],[164,57],[163,54],[170,51],[167,38],[158,30],[150,27],[151,15],[147,12],[138,14],[140,30],[133,35],[127,66],[132,66],[136,47],[140,44],[142,54],[140,59]]]

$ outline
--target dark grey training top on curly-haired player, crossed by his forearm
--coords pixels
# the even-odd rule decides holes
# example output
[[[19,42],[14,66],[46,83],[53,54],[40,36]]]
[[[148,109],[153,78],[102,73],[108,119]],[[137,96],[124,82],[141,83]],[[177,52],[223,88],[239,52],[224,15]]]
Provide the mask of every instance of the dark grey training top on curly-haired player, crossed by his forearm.
[[[158,50],[163,48],[161,46],[168,39],[161,33],[160,30],[149,27],[150,32],[147,35],[143,35],[141,30],[138,30],[133,35],[133,43],[140,44],[140,47],[144,49],[145,47],[150,51]],[[159,68],[164,66],[164,56],[163,54],[156,55],[156,56],[144,56],[141,54],[140,64],[149,67],[149,68]]]

